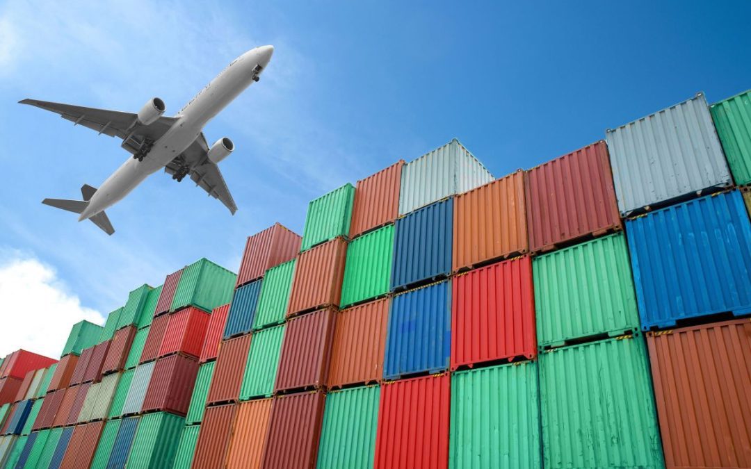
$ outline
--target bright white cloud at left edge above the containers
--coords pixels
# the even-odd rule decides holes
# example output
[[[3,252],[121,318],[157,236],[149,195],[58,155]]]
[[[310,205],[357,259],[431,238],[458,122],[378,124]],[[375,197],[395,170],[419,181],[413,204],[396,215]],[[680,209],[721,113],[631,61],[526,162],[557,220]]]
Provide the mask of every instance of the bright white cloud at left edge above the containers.
[[[74,323],[104,323],[98,311],[68,291],[52,266],[20,251],[0,251],[0,298],[0,356],[23,348],[57,358]]]

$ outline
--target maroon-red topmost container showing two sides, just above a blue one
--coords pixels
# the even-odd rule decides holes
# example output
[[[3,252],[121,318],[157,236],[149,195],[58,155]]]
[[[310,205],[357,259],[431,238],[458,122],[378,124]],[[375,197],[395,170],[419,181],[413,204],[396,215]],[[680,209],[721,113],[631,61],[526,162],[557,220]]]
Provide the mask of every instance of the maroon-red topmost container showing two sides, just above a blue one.
[[[253,236],[248,236],[237,272],[237,287],[261,278],[268,269],[294,259],[300,252],[303,238],[275,223]]]

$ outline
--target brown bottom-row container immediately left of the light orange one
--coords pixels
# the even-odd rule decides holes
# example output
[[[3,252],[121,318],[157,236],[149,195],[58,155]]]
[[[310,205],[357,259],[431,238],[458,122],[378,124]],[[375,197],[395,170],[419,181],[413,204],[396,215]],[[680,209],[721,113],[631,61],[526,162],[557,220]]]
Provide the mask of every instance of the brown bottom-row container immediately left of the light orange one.
[[[198,432],[192,469],[225,467],[232,425],[237,416],[237,405],[226,404],[206,408],[204,421],[201,422],[201,430]]]

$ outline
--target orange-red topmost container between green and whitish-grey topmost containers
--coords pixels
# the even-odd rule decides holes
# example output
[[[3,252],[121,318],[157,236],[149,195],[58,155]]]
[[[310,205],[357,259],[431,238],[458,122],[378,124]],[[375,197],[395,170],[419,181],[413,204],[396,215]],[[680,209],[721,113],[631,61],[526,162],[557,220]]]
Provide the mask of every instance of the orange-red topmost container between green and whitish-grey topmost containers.
[[[399,189],[404,160],[357,181],[349,237],[393,223],[399,216]]]

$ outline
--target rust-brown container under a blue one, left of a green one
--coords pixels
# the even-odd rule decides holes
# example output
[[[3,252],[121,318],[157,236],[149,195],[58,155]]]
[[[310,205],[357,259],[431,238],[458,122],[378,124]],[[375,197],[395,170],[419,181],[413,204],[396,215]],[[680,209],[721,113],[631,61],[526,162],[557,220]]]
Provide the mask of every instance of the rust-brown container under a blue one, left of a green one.
[[[219,356],[216,358],[214,375],[209,386],[209,404],[240,399],[240,385],[243,383],[250,338],[251,335],[243,335],[223,341],[219,345]]]

